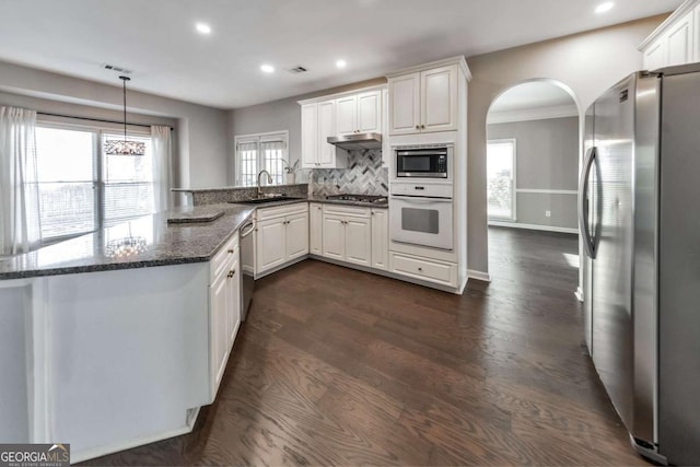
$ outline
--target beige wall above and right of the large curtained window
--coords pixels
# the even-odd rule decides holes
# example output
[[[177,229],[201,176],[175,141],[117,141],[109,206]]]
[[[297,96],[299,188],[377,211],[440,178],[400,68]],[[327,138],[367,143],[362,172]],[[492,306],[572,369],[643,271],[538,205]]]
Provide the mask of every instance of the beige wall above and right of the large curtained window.
[[[138,77],[133,77],[131,83],[137,81]],[[115,118],[118,114],[113,112],[122,106],[121,82],[117,77],[112,86],[7,62],[0,62],[0,91],[3,104],[81,117]],[[176,172],[179,174],[176,187],[226,184],[229,116],[225,110],[131,91],[129,85],[127,106],[130,113],[141,114],[132,116],[136,122],[160,122],[150,116],[176,122]]]

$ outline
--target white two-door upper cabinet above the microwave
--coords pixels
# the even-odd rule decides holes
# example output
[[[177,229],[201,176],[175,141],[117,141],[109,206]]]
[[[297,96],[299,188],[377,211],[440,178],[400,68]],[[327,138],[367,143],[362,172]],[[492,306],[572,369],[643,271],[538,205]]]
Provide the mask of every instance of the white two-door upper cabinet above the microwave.
[[[457,129],[462,98],[458,83],[469,75],[466,61],[464,58],[443,60],[427,67],[388,77],[389,135]]]

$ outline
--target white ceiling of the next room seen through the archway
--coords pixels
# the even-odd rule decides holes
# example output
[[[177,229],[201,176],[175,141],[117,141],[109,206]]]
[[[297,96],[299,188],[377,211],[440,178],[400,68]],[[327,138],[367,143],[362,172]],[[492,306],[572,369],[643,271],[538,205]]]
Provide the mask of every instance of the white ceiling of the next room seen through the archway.
[[[529,110],[541,107],[573,106],[571,95],[550,81],[533,81],[518,84],[501,94],[489,108],[489,113]]]

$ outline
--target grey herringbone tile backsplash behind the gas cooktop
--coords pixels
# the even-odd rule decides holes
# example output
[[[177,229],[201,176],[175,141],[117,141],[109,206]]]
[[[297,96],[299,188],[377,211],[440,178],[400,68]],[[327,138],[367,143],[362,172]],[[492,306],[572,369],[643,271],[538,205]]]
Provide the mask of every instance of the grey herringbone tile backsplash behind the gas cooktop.
[[[308,174],[308,194],[388,195],[389,173],[382,166],[382,150],[348,151],[348,168],[314,168]]]

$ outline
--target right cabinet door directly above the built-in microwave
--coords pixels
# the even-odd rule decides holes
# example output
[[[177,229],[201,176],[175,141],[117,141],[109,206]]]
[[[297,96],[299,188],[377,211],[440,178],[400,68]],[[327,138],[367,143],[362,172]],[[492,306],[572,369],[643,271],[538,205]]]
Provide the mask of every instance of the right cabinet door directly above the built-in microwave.
[[[421,72],[421,130],[457,129],[457,67]]]

